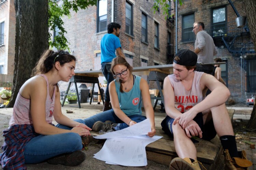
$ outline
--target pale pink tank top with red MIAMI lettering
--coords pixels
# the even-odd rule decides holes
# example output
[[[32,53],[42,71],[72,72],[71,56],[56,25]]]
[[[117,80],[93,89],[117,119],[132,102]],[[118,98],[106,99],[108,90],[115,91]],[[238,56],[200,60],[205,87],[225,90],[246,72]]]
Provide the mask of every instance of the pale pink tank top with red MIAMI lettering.
[[[175,108],[181,113],[200,103],[204,98],[200,87],[200,79],[203,72],[194,71],[192,87],[189,91],[185,89],[180,80],[176,80],[174,74],[168,75],[171,85],[174,89]]]

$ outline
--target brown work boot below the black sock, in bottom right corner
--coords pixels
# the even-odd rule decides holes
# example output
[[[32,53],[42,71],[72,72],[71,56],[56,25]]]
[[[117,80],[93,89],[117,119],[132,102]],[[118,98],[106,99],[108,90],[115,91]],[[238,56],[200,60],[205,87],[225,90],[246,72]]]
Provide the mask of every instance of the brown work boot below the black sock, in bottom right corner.
[[[245,151],[238,152],[239,157],[234,157],[231,159],[228,150],[224,151],[224,162],[225,170],[247,170],[248,167],[252,166],[253,163],[247,160]]]

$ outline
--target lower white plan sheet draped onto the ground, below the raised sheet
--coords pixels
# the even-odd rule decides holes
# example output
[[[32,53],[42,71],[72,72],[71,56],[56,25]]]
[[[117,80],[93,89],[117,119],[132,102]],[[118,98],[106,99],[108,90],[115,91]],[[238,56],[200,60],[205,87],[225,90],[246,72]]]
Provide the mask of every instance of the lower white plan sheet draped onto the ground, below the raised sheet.
[[[146,166],[147,157],[145,147],[160,139],[162,136],[123,137],[107,139],[102,149],[94,158],[103,160],[108,164],[123,166]]]

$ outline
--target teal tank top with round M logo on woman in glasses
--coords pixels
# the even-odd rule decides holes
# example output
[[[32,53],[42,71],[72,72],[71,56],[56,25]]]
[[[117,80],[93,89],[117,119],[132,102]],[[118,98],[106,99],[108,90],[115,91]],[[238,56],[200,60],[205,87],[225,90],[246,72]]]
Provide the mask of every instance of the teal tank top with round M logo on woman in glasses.
[[[141,77],[136,76],[134,85],[129,92],[120,92],[120,83],[115,79],[116,92],[118,96],[120,109],[127,115],[142,115],[141,105],[142,96],[140,90]]]

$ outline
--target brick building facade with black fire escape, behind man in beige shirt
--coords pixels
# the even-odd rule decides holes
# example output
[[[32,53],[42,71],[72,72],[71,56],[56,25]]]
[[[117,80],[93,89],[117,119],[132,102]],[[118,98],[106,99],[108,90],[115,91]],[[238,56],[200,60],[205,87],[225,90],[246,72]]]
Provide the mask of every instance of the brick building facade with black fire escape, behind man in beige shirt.
[[[183,0],[177,16],[177,49],[195,49],[193,23],[203,22],[218,50],[214,57],[226,62],[221,65],[222,78],[237,102],[256,94],[256,55],[250,30],[247,24],[243,28],[236,24],[238,16],[245,16],[244,10],[243,0]]]

